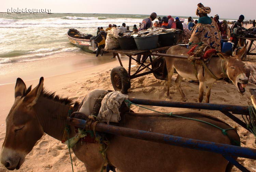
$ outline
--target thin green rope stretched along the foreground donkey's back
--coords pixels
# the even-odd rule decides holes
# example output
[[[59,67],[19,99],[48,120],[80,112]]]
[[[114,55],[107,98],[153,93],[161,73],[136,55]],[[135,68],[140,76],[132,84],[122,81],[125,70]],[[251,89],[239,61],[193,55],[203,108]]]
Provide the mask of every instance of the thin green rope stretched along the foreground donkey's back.
[[[161,114],[166,114],[166,115],[169,115],[169,116],[174,116],[174,117],[179,117],[179,118],[184,118],[184,119],[195,120],[195,121],[199,121],[199,122],[202,122],[202,123],[205,123],[205,124],[209,124],[209,125],[211,125],[211,126],[213,126],[213,127],[216,127],[216,128],[218,128],[218,129],[220,129],[224,135],[227,135],[227,132],[226,132],[227,130],[233,130],[233,129],[234,129],[234,128],[223,129],[223,128],[218,127],[218,126],[216,126],[216,125],[214,125],[214,124],[211,124],[211,123],[209,123],[209,122],[207,122],[207,121],[203,121],[203,120],[199,120],[199,119],[194,119],[194,118],[188,118],[188,117],[184,117],[184,116],[173,115],[172,112],[170,112],[170,113],[163,113],[163,112],[155,111],[155,110],[153,110],[153,109],[149,109],[149,108],[140,106],[140,105],[138,105],[138,104],[134,104],[134,103],[132,103],[130,100],[125,100],[125,101],[128,103],[128,106],[129,106],[129,107],[130,107],[131,104],[133,104],[133,105],[139,106],[139,107],[141,107],[141,108],[144,108],[144,109],[147,109],[147,110],[150,110],[150,111],[154,111],[154,112],[158,112],[158,113],[161,113]]]

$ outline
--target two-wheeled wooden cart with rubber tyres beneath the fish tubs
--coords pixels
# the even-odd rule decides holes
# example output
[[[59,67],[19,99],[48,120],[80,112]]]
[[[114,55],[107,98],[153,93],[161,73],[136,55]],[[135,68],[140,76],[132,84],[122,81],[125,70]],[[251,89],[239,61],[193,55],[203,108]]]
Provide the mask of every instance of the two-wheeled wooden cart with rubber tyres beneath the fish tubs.
[[[167,69],[166,69],[166,62],[164,57],[174,57],[174,58],[183,58],[187,59],[186,56],[178,56],[178,55],[166,55],[166,51],[171,46],[156,48],[156,49],[150,49],[150,50],[121,50],[121,49],[103,49],[103,51],[115,53],[117,55],[118,61],[120,63],[119,67],[115,67],[111,71],[111,83],[113,85],[113,88],[116,91],[120,91],[122,93],[127,93],[128,89],[131,87],[130,80],[144,76],[150,73],[153,73],[154,76],[159,80],[167,80]],[[119,54],[125,54],[129,57],[129,66],[128,66],[128,72],[123,67],[122,61],[119,57]],[[148,56],[150,59],[150,63],[144,64],[144,62],[137,61],[132,56],[137,55],[145,55]],[[154,58],[152,58],[154,56]],[[136,61],[139,63],[139,67],[131,74],[131,60]],[[144,69],[147,69],[148,71],[143,71]]]

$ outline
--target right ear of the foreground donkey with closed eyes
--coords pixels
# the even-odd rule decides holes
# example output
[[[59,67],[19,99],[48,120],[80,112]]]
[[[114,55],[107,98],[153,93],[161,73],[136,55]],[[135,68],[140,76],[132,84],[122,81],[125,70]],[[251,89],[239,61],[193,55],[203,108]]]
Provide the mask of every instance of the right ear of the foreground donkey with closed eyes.
[[[37,102],[38,97],[41,95],[43,91],[43,82],[44,78],[41,77],[39,84],[34,89],[32,89],[27,96],[25,96],[23,101],[26,103],[28,108],[30,108]]]

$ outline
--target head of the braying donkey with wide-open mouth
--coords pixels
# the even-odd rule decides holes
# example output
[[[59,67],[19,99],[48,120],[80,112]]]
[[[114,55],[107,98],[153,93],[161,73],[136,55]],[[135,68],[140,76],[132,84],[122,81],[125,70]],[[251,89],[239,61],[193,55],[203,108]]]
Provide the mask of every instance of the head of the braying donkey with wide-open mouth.
[[[249,78],[246,76],[245,64],[241,61],[241,56],[246,51],[246,45],[239,51],[236,56],[228,56],[224,53],[218,55],[227,61],[226,74],[232,83],[243,93],[248,84]]]

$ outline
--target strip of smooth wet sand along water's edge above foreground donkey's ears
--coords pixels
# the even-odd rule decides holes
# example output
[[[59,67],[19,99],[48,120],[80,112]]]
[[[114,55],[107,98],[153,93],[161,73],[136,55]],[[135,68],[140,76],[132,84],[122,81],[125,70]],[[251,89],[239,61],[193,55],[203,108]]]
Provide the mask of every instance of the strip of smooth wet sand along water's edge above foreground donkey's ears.
[[[117,58],[109,59],[110,57],[112,57],[110,53],[95,57],[95,54],[85,52],[63,52],[52,55],[47,60],[5,63],[1,66],[0,86],[16,83],[17,77],[24,78],[24,81],[31,81],[41,76],[54,77],[69,74],[113,61],[119,64]]]

